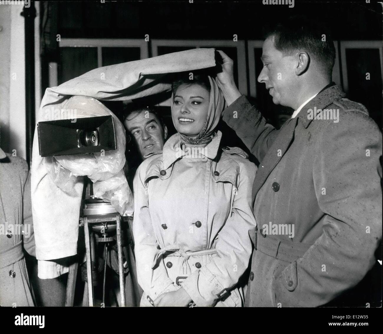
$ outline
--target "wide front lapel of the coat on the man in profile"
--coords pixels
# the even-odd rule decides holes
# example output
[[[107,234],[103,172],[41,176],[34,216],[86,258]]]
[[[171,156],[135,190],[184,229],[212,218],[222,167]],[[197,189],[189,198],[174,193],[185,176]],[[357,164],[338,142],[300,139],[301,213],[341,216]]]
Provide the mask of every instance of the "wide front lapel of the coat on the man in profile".
[[[264,160],[262,160],[262,162],[259,164],[252,190],[253,205],[255,196],[257,195],[259,189],[263,186],[271,171],[275,168],[275,166],[277,166],[277,163],[282,159],[282,156],[288,150],[290,143],[294,138],[294,130],[296,127],[297,119],[297,117],[290,118],[283,125],[280,133],[278,134],[277,138],[275,138],[272,146],[268,150]],[[280,154],[278,154],[278,150],[281,150]]]

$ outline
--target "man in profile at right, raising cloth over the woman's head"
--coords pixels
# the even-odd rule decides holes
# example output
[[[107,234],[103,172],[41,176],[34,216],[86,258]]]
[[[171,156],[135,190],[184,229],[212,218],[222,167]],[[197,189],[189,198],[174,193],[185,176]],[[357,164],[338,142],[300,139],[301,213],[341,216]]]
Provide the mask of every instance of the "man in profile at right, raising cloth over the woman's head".
[[[247,306],[334,300],[349,306],[340,297],[377,264],[381,132],[367,109],[331,82],[335,50],[322,34],[293,19],[265,39],[258,81],[275,104],[295,110],[280,130],[241,95],[232,60],[218,51],[217,82],[229,105],[223,119],[260,161],[252,190],[257,231]]]

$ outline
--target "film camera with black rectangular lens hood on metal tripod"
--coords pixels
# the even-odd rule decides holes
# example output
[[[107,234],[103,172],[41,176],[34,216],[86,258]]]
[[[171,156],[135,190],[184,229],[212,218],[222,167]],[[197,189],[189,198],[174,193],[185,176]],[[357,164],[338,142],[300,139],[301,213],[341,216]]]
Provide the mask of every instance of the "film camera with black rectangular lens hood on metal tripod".
[[[101,150],[116,150],[116,129],[113,117],[98,116],[85,117],[73,120],[52,120],[39,122],[37,125],[39,153],[42,157],[76,155],[81,153],[100,153]],[[120,214],[111,206],[109,202],[95,198],[93,195],[92,184],[86,178],[85,198],[83,198],[83,216],[80,217],[80,226],[84,226],[86,266],[84,267],[85,291],[83,305],[94,305],[93,285],[97,282],[97,273],[92,273],[97,265],[97,252],[95,242],[101,242],[104,246],[104,281],[103,281],[103,301],[105,298],[105,272],[108,246],[114,240],[118,249],[119,285],[121,291],[121,306],[125,306],[124,290],[124,269],[123,253],[128,258],[126,247],[123,247],[121,238],[124,221]],[[77,266],[75,263],[69,269],[69,279],[67,286],[67,298],[65,305],[73,306],[75,278],[77,276]],[[71,283],[70,283],[71,282]],[[88,283],[92,282],[92,283]]]

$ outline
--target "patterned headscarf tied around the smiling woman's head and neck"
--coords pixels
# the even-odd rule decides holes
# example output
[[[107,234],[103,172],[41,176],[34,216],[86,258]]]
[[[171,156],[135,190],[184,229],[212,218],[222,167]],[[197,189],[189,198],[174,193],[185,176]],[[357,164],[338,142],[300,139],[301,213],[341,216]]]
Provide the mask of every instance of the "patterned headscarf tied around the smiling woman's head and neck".
[[[215,80],[208,76],[210,81],[210,101],[209,101],[209,110],[208,117],[206,117],[206,122],[202,127],[201,132],[196,138],[190,138],[182,133],[178,132],[180,138],[187,144],[206,144],[210,143],[213,139],[214,130],[218,125],[219,118],[221,117],[225,100],[221,91],[218,88]],[[173,94],[171,100],[171,107],[173,107]]]

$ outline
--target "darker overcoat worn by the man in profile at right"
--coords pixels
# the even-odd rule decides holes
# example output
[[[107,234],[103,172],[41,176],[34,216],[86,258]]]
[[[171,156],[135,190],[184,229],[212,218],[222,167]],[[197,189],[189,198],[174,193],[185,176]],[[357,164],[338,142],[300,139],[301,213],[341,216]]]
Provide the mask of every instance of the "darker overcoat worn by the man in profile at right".
[[[248,306],[321,306],[356,286],[376,264],[382,136],[367,109],[344,96],[339,86],[322,90],[280,130],[244,96],[223,112],[260,161]],[[339,109],[339,122],[310,119],[314,107]],[[269,230],[274,224],[282,229]]]

